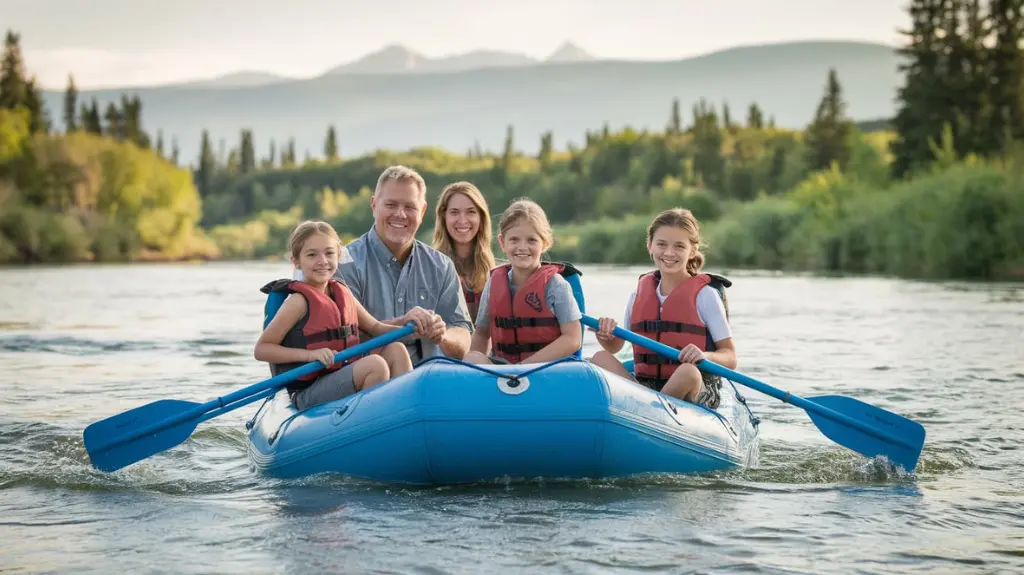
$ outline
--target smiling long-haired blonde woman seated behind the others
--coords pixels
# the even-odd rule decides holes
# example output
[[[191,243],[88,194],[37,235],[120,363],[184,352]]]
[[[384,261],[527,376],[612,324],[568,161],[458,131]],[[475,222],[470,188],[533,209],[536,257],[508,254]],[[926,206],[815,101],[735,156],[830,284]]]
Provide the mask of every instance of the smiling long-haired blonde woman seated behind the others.
[[[490,213],[480,190],[469,182],[444,186],[437,200],[433,248],[455,262],[469,315],[474,321],[480,291],[487,282],[490,268],[495,267],[490,233]]]

